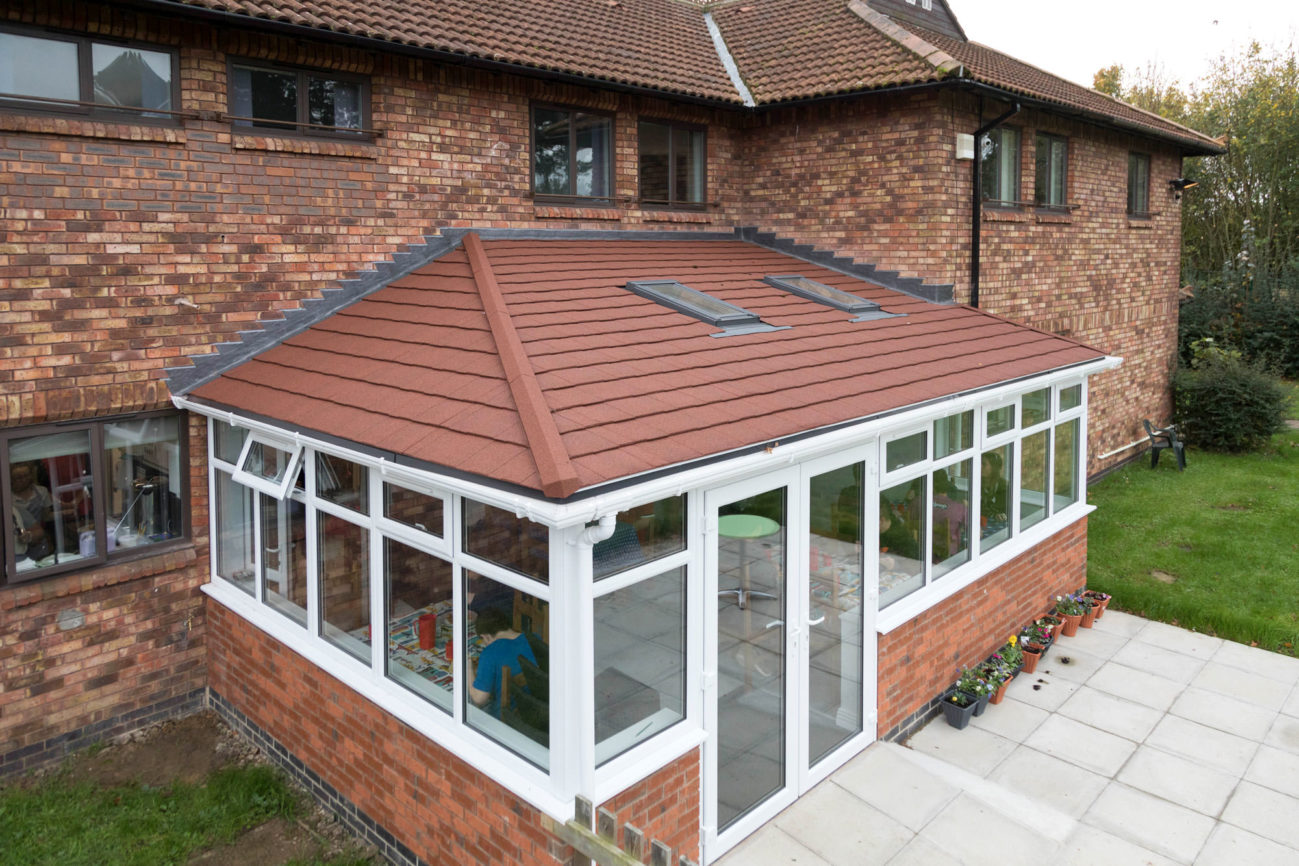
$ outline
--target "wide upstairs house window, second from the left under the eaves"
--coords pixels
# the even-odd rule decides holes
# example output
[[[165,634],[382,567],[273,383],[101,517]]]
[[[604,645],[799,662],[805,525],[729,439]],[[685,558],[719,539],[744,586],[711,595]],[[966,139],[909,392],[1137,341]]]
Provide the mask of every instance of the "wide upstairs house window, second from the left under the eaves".
[[[357,75],[243,61],[230,66],[235,126],[355,136],[368,112],[369,83]]]

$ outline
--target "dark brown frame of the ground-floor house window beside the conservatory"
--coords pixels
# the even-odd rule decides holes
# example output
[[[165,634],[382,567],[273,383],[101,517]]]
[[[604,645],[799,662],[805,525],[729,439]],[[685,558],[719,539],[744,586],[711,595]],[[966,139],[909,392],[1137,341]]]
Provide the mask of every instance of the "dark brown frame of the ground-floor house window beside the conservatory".
[[[108,514],[108,478],[107,478],[107,453],[104,448],[104,428],[108,425],[122,423],[125,421],[142,421],[148,418],[165,418],[174,417],[177,419],[177,447],[181,453],[179,461],[179,479],[181,479],[181,532],[171,539],[165,539],[162,541],[155,541],[152,544],[143,544],[135,547],[114,548],[108,549],[108,535],[110,532],[110,521]],[[0,538],[0,589],[6,587],[18,587],[30,583],[39,583],[48,578],[61,576],[73,571],[83,571],[87,569],[100,567],[105,563],[114,563],[129,560],[140,560],[147,556],[155,556],[158,553],[165,553],[173,551],[178,547],[191,543],[194,527],[191,526],[190,515],[190,427],[188,427],[188,413],[177,412],[169,409],[161,409],[156,412],[139,412],[131,414],[110,415],[104,418],[94,418],[86,421],[78,421],[71,423],[45,423],[30,427],[8,427],[0,431],[0,473],[5,478],[3,489],[0,489],[0,508],[4,509],[5,514],[12,514],[13,497],[9,487],[9,443],[14,439],[34,439],[40,436],[49,436],[55,434],[66,432],[79,432],[86,431],[90,440],[90,465],[91,465],[91,484],[94,487],[91,492],[91,502],[95,509],[95,554],[88,557],[79,557],[71,562],[58,563],[53,566],[47,566],[43,569],[32,569],[22,574],[18,573],[17,561],[14,557],[14,547],[8,539],[8,531],[4,538]],[[53,495],[55,491],[51,491]],[[122,514],[125,519],[126,514]],[[4,523],[9,526],[6,519]],[[118,521],[121,525],[121,521]]]

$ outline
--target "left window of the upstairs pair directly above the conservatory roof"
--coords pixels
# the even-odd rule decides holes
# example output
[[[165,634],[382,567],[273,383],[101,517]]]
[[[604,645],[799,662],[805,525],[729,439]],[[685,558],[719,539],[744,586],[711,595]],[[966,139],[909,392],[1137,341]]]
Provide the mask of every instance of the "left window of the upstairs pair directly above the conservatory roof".
[[[613,118],[533,106],[533,193],[538,197],[608,199],[613,188]]]

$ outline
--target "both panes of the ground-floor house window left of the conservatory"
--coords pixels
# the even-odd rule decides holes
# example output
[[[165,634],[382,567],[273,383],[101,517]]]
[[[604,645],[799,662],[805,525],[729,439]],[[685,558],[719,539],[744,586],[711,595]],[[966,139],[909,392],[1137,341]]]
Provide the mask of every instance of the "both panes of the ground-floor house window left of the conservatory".
[[[183,415],[166,413],[5,431],[5,583],[184,538],[188,462],[182,422]]]

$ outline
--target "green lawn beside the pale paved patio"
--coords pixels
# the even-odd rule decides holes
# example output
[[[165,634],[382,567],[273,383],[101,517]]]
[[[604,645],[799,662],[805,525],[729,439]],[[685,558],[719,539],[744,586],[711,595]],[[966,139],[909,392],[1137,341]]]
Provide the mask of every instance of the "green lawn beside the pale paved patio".
[[[1089,489],[1087,584],[1122,610],[1299,654],[1296,491],[1299,431],[1254,454],[1191,452],[1185,473],[1143,457]]]

